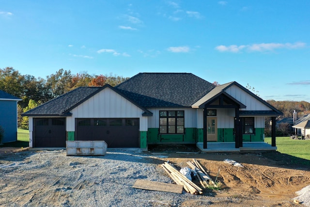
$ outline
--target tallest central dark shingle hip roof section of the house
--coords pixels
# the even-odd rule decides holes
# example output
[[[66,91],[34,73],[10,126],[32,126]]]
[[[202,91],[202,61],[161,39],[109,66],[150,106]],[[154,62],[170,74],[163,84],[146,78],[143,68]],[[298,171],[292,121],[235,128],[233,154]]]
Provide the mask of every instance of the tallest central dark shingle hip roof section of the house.
[[[115,88],[143,107],[189,107],[215,85],[191,73],[139,73]]]

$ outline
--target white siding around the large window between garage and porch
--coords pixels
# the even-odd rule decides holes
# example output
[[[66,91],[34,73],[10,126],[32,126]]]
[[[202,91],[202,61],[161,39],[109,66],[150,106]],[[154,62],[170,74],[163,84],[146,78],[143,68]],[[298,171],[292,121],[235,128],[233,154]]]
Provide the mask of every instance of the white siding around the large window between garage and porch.
[[[191,108],[152,108],[153,116],[148,117],[149,128],[159,128],[159,111],[184,111],[184,125],[186,128],[197,127],[197,110]]]

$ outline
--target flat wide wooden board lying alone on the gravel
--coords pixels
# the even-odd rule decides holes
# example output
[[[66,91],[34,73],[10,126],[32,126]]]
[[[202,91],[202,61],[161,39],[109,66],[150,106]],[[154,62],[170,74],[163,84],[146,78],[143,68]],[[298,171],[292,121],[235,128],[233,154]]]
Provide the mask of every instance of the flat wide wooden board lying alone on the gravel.
[[[150,191],[182,193],[183,185],[161,183],[149,180],[137,180],[133,185],[133,188],[139,188]]]

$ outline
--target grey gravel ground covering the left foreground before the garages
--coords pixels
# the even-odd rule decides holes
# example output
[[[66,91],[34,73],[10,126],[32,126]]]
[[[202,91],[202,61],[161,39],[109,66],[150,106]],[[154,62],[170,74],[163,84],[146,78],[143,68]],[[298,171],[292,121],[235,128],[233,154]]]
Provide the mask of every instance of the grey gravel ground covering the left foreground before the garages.
[[[68,157],[65,150],[56,150],[11,155],[0,159],[0,206],[177,207],[187,200],[210,204],[209,196],[132,188],[137,179],[172,182],[159,166],[163,160],[143,152]]]

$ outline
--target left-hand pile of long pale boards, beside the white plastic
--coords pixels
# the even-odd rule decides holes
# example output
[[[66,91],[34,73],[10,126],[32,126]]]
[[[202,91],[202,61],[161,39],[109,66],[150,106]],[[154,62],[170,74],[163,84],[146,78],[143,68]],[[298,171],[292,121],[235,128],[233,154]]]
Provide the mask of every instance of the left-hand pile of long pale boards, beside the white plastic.
[[[161,164],[161,166],[176,184],[183,185],[186,192],[191,194],[202,194],[202,189],[190,181],[185,175],[181,174],[172,164],[165,162]]]

